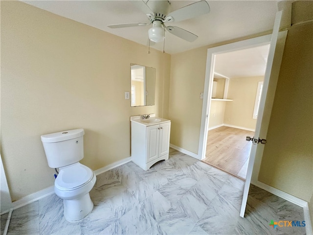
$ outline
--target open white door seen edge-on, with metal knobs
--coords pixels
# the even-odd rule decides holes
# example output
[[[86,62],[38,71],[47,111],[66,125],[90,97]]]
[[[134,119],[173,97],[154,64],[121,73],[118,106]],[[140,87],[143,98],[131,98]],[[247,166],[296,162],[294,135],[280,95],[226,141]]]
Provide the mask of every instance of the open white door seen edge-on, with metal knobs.
[[[252,139],[251,141],[253,142],[253,144],[251,147],[248,169],[247,169],[247,174],[246,174],[246,183],[245,183],[243,201],[242,201],[241,211],[240,211],[241,217],[244,217],[245,211],[246,211],[246,202],[247,202],[249,187],[251,183],[252,170],[253,170],[253,166],[255,163],[255,154],[257,152],[257,149],[261,147],[261,143],[258,144],[258,142],[259,142],[259,139],[266,138],[266,136],[260,136],[260,131],[261,131],[261,124],[268,125],[269,116],[270,116],[270,112],[266,112],[266,113],[264,112],[265,101],[268,95],[268,83],[271,77],[278,76],[279,68],[281,64],[282,52],[285,47],[287,30],[282,32],[282,34],[278,35],[281,17],[282,17],[282,11],[277,12],[275,23],[274,23],[274,28],[273,28],[273,33],[271,36],[269,52],[268,52],[268,62],[267,62],[267,67],[266,67],[266,71],[264,75],[263,90],[262,90],[262,95],[261,95],[261,100],[260,100],[258,119],[257,119],[256,127],[255,127],[255,134],[254,134],[254,137],[251,138]],[[275,53],[275,50],[276,50],[276,53]],[[279,53],[277,53],[277,51]],[[275,55],[275,70],[272,70],[272,66],[274,62],[274,55]],[[276,87],[276,83],[274,85]],[[273,87],[271,87],[271,89],[272,88]],[[273,99],[273,95],[271,99]],[[266,120],[267,123],[262,122],[263,118]]]

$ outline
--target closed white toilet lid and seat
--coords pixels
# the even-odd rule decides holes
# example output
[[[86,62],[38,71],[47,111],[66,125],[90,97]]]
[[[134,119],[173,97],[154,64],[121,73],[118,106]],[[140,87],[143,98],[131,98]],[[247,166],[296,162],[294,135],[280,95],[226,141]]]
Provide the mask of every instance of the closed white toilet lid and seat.
[[[86,165],[74,163],[60,167],[54,186],[59,190],[70,191],[87,185],[93,177],[93,171]]]

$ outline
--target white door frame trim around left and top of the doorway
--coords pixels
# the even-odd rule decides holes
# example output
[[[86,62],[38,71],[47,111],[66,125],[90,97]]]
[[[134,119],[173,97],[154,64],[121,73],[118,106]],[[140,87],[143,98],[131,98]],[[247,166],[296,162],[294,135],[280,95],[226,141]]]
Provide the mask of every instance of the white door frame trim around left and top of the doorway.
[[[204,80],[204,91],[203,91],[203,103],[201,113],[201,127],[200,127],[200,139],[198,156],[201,160],[205,158],[206,142],[208,133],[209,114],[211,109],[212,101],[212,89],[213,89],[213,78],[214,78],[214,67],[215,67],[215,55],[230,52],[234,50],[247,49],[251,47],[259,47],[270,44],[271,34],[247,39],[244,41],[222,45],[219,47],[212,47],[207,49],[206,57],[206,68],[205,68],[205,80]]]

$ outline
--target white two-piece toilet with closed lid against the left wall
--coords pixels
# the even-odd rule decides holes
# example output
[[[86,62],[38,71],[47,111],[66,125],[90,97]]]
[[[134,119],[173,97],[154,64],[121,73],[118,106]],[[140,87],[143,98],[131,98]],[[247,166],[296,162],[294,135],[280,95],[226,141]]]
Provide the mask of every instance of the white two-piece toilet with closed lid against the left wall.
[[[48,165],[59,168],[54,191],[63,199],[64,217],[69,222],[85,218],[93,208],[89,191],[96,175],[79,163],[84,158],[84,134],[84,129],[76,129],[41,136]]]

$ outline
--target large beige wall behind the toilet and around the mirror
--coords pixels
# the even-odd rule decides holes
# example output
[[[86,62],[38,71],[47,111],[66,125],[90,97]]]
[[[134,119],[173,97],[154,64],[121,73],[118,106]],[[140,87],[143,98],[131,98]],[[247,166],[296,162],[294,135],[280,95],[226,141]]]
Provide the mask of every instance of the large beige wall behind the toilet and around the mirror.
[[[156,68],[156,105],[130,107],[130,64]],[[84,128],[83,164],[130,157],[130,116],[168,116],[170,55],[1,1],[1,157],[12,200],[53,185],[40,136]]]

